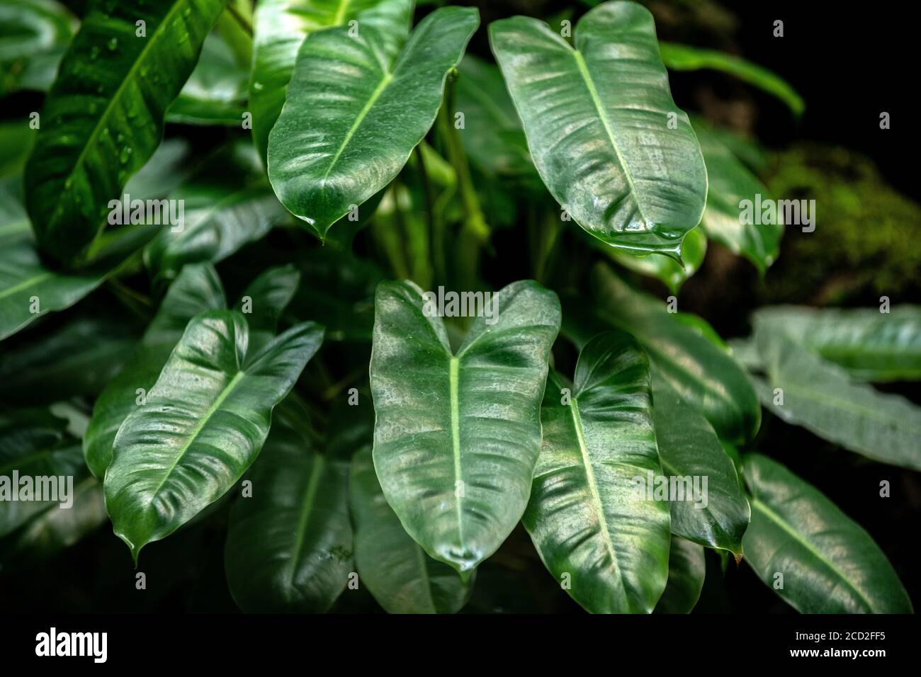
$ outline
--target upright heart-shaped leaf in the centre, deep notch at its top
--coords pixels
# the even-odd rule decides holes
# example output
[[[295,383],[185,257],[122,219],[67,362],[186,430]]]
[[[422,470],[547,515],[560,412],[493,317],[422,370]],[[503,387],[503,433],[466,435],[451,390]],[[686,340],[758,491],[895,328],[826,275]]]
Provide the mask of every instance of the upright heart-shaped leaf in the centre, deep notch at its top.
[[[378,286],[374,464],[403,528],[469,577],[527,506],[560,307],[537,283],[513,283],[452,352],[434,305],[413,283]]]

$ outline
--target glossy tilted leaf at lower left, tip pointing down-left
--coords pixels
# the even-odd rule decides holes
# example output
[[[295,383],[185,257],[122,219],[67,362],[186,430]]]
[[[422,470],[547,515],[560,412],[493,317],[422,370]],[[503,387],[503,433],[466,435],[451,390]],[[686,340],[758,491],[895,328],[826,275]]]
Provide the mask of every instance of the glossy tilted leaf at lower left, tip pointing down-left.
[[[106,508],[115,534],[137,560],[223,496],[256,459],[272,410],[294,386],[322,340],[305,322],[258,353],[233,310],[196,316],[146,404],[128,414],[106,472]]]

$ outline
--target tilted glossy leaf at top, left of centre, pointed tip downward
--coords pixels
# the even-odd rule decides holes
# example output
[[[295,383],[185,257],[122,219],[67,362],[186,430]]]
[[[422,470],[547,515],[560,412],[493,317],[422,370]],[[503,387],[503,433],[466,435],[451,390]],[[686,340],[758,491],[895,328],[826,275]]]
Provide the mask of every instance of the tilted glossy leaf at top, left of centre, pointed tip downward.
[[[357,37],[347,28],[310,35],[269,136],[269,179],[288,211],[323,239],[351,205],[387,186],[435,122],[478,25],[475,8],[442,7],[400,53],[374,26]]]

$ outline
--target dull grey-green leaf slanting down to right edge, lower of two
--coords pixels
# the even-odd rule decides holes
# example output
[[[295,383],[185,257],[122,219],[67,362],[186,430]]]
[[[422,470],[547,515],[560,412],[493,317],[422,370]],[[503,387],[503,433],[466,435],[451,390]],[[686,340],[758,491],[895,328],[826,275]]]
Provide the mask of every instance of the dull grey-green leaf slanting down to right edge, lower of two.
[[[921,407],[852,382],[764,319],[756,320],[755,336],[770,382],[762,391],[766,409],[874,461],[921,470]]]

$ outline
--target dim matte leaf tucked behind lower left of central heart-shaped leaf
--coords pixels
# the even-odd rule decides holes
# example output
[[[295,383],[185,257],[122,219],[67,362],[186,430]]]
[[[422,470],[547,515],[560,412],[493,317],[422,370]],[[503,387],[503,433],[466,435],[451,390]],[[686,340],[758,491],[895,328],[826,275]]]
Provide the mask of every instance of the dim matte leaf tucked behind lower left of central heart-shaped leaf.
[[[371,448],[352,460],[350,482],[358,575],[388,613],[455,613],[472,583],[429,557],[402,528],[380,489]]]

